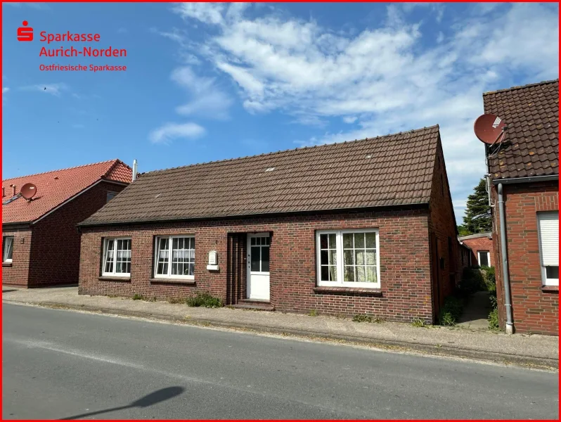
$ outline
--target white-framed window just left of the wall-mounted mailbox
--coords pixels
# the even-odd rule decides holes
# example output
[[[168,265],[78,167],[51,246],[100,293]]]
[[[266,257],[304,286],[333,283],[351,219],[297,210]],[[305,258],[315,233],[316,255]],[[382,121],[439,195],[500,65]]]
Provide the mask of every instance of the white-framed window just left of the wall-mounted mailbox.
[[[156,238],[155,274],[160,278],[195,278],[195,238],[159,236]]]

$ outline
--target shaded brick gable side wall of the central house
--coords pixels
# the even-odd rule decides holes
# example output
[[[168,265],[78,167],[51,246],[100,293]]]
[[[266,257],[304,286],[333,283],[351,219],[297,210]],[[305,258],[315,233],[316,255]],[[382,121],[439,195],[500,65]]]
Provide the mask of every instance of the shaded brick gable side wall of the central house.
[[[444,298],[453,293],[460,276],[458,234],[456,233],[456,221],[440,141],[437,146],[437,158],[434,162],[433,174],[429,217],[431,245],[430,250],[423,252],[430,251],[432,273],[435,280],[434,309],[437,313],[444,302]]]

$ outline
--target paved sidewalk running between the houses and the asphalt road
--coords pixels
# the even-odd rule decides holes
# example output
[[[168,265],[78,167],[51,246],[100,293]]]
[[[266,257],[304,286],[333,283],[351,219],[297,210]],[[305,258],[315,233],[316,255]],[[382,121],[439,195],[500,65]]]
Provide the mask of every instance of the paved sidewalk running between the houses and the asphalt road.
[[[465,328],[415,327],[390,322],[359,323],[330,316],[207,309],[169,302],[78,295],[77,287],[26,290],[3,286],[2,299],[16,304],[137,316],[256,333],[296,335],[315,340],[337,340],[404,352],[453,355],[549,368],[559,366],[559,339],[548,335],[506,335]]]

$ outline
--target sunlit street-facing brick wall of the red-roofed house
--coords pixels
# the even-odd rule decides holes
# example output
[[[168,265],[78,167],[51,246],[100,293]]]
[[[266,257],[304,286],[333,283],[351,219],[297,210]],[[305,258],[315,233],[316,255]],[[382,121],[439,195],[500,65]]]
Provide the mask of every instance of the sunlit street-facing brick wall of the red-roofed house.
[[[32,231],[3,227],[2,236],[13,236],[12,262],[2,264],[2,284],[27,287]]]

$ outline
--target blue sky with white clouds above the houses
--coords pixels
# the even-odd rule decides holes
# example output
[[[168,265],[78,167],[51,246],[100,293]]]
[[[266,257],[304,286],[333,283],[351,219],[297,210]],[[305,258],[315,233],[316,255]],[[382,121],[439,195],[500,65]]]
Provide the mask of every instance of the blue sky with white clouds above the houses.
[[[16,40],[22,20],[30,43]],[[4,179],[112,158],[146,172],[438,123],[461,222],[485,172],[472,132],[482,92],[558,77],[557,4],[4,3],[2,23]],[[98,33],[94,47],[127,57],[40,58],[43,30]]]

